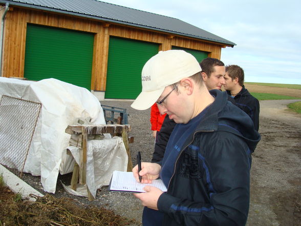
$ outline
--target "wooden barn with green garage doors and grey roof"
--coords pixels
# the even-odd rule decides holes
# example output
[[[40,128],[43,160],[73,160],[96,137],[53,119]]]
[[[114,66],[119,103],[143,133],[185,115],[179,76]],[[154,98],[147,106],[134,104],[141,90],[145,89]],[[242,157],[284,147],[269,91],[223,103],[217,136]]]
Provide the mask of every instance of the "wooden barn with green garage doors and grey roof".
[[[0,0],[0,7],[1,76],[57,78],[99,100],[135,99],[143,65],[160,50],[201,61],[235,45],[179,19],[96,0]]]

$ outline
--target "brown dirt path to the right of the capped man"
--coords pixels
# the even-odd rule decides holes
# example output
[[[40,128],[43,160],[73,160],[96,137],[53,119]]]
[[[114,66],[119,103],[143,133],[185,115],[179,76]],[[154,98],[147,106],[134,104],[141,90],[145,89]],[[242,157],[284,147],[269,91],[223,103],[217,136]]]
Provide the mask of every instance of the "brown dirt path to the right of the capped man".
[[[294,101],[260,102],[262,140],[252,155],[248,226],[301,225],[301,116],[285,110]]]

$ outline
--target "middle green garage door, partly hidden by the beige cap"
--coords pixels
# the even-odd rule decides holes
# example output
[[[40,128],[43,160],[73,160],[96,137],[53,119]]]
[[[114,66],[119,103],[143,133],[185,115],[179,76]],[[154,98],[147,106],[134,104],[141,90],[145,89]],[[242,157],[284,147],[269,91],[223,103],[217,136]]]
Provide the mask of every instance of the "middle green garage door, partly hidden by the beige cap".
[[[110,37],[104,98],[135,99],[141,92],[141,71],[159,45]]]

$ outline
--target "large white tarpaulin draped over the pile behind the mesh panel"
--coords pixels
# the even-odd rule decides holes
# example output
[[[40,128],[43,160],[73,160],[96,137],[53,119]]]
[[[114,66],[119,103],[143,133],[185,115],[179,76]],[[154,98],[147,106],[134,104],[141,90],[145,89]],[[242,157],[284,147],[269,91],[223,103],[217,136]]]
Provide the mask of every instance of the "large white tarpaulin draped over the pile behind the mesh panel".
[[[54,78],[34,82],[0,77],[1,95],[42,104],[24,172],[40,175],[44,190],[55,193],[58,172],[65,174],[73,169],[72,157],[66,151],[71,135],[65,129],[79,118],[105,124],[100,102],[87,89]]]

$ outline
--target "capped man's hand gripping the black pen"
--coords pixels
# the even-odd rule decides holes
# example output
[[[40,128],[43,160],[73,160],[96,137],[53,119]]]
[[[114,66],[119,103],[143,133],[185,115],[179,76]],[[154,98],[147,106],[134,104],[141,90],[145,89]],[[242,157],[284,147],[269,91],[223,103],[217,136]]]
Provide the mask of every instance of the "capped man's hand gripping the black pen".
[[[138,165],[136,165],[132,171],[137,181],[139,181],[140,175],[142,176],[141,183],[152,183],[152,180],[159,177],[161,166],[158,163],[141,162],[141,171],[138,172]]]

